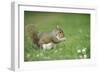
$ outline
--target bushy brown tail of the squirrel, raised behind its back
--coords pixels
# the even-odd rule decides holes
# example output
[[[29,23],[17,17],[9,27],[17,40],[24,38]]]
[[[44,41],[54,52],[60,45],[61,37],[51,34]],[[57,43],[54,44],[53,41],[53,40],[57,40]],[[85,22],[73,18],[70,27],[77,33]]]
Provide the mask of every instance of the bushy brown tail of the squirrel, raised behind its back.
[[[25,33],[32,40],[32,42],[38,46],[38,41],[39,41],[38,31],[35,25],[34,24],[25,25]]]

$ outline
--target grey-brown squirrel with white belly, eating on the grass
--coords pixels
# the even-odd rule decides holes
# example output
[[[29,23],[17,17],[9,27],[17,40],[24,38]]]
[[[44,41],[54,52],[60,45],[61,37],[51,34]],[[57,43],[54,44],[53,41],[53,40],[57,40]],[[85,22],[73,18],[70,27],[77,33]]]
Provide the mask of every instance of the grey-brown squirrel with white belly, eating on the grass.
[[[56,43],[66,40],[59,25],[56,25],[51,32],[38,32],[34,26],[31,26],[30,31],[33,43],[42,49],[51,49]]]

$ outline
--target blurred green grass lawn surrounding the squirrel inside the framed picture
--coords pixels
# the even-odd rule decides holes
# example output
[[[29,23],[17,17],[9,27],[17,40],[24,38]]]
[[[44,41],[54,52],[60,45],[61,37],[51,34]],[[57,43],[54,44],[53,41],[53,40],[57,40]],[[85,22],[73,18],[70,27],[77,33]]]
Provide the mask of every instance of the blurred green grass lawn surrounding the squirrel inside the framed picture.
[[[67,38],[56,48],[44,51],[32,43],[31,32],[25,29],[24,61],[81,59],[80,55],[84,54],[90,58],[90,14],[25,11],[24,23],[25,28],[35,25],[39,32],[52,31],[55,25],[59,25]],[[85,53],[77,52],[83,48],[86,48]]]

